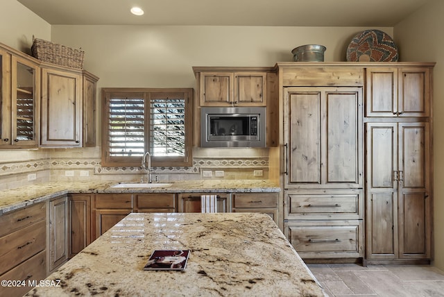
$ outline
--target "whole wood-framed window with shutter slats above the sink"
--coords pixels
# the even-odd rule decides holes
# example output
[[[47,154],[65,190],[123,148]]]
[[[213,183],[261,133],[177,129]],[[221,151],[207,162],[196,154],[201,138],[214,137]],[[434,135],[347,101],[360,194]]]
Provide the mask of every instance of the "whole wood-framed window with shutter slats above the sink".
[[[191,166],[193,89],[103,88],[102,166]]]

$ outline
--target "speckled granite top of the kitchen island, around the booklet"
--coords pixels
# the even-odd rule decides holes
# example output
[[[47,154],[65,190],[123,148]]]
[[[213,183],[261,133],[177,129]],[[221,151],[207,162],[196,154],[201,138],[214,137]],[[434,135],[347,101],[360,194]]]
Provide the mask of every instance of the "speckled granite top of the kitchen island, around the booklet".
[[[169,249],[190,251],[185,270],[143,270]],[[129,214],[46,281],[26,296],[326,296],[259,213]]]

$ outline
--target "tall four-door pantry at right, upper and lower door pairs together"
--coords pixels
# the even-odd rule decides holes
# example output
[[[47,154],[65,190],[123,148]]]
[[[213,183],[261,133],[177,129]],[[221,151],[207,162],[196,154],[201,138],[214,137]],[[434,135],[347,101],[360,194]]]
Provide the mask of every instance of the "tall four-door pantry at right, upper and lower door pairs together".
[[[432,66],[366,69],[367,259],[432,257]]]

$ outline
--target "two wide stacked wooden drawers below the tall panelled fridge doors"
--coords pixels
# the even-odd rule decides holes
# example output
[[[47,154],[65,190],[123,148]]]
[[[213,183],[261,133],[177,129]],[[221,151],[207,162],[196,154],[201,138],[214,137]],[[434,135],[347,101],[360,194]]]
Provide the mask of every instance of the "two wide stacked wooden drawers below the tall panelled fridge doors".
[[[284,196],[284,234],[302,259],[364,263],[362,189],[291,189]]]

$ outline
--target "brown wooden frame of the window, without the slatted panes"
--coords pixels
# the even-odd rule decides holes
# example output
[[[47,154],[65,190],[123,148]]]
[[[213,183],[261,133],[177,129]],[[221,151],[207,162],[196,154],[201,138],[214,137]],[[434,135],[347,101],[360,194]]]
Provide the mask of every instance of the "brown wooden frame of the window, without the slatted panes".
[[[192,166],[192,144],[193,144],[193,89],[192,88],[133,88],[133,87],[103,87],[102,90],[102,147],[101,165],[102,167],[140,167],[142,157],[125,156],[110,158],[109,146],[109,97],[111,94],[143,94],[144,100],[151,103],[151,94],[183,93],[185,99],[185,156],[179,157],[159,157],[151,158],[152,167],[191,167]],[[149,110],[149,104],[145,104],[145,110]],[[149,119],[149,117],[148,117]],[[146,128],[149,127],[146,126]],[[147,151],[149,142],[148,129],[146,130],[144,148]]]

